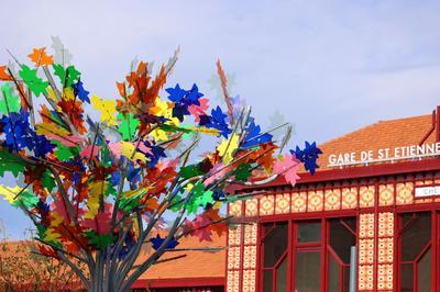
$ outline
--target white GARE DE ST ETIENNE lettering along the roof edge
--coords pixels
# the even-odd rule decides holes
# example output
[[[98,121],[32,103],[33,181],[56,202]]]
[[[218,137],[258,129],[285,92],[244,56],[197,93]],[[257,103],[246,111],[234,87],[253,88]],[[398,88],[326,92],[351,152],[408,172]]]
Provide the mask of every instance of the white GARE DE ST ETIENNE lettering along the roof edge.
[[[415,159],[440,155],[440,142],[422,145],[409,145],[395,148],[382,148],[377,150],[364,150],[360,153],[330,154],[328,166],[342,167],[364,165],[373,162]]]

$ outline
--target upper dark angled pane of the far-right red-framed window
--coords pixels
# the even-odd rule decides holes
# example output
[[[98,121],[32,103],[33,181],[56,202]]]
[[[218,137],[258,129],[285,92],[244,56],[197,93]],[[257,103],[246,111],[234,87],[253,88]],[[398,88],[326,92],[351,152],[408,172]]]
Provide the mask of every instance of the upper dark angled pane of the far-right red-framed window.
[[[431,214],[419,213],[417,217],[409,223],[408,227],[403,231],[402,260],[415,260],[430,239]]]

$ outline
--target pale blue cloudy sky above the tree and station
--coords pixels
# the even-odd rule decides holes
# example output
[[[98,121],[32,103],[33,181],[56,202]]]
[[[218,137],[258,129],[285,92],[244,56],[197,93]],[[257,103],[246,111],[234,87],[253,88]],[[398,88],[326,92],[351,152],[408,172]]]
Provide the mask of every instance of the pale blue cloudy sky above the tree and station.
[[[160,3],[165,2],[165,3]],[[324,142],[360,126],[427,114],[440,104],[440,1],[6,1],[0,64],[57,35],[88,89],[116,97],[130,61],[166,61],[169,85],[208,80],[221,58],[233,94],[262,124],[278,111],[294,141]],[[16,237],[29,223],[0,202]]]

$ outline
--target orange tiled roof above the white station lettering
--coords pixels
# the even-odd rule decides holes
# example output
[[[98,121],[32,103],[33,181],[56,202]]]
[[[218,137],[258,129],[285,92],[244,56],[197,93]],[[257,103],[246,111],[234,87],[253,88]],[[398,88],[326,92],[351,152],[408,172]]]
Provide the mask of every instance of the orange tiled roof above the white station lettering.
[[[408,145],[418,145],[432,127],[432,115],[380,121],[361,127],[354,132],[342,135],[319,145],[322,150],[318,159],[319,170],[329,169],[329,156],[334,154],[356,153],[364,150],[395,148]],[[436,132],[428,136],[425,144],[436,142]]]

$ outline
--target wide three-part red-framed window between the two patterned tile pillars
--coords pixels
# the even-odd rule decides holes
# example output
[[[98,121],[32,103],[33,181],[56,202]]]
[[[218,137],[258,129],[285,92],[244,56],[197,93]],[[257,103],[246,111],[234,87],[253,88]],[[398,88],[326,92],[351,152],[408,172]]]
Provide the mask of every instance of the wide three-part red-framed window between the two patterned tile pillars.
[[[266,223],[262,233],[263,292],[349,291],[354,217]]]

